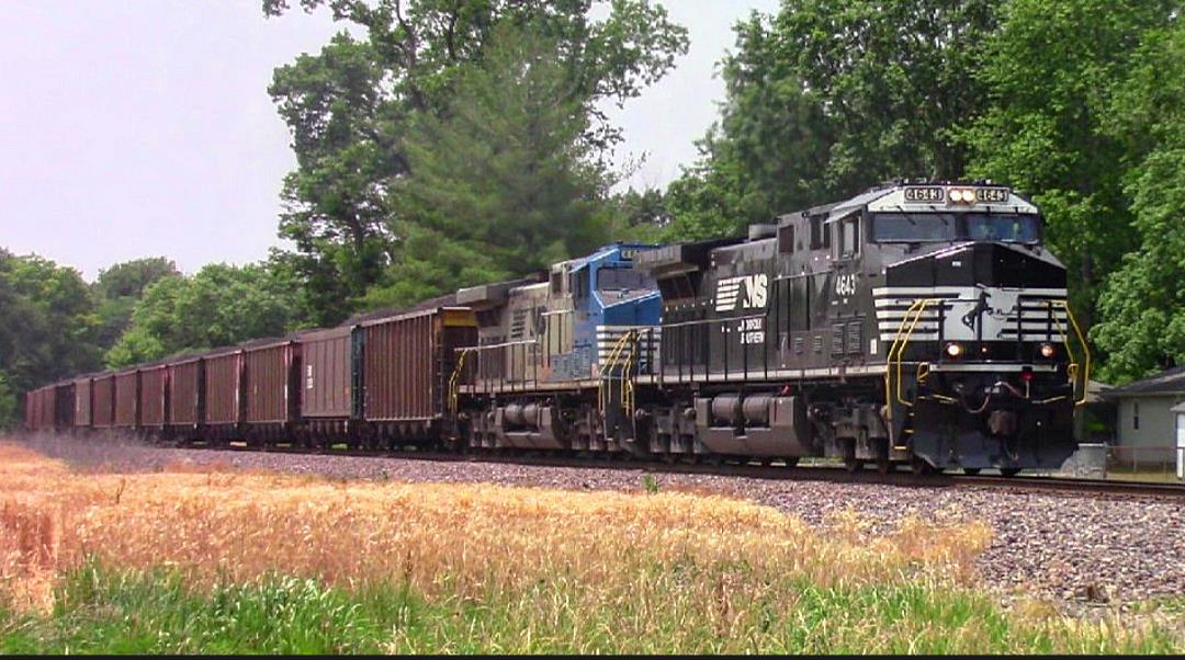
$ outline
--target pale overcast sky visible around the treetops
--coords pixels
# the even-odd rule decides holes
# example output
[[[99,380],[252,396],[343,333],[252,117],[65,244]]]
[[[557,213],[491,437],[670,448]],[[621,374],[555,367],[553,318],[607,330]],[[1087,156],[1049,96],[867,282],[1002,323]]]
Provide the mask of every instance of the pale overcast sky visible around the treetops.
[[[296,5],[296,2],[293,2]],[[777,0],[666,0],[691,52],[613,116],[665,186],[716,117],[732,24]],[[260,0],[2,0],[0,246],[78,268],[167,256],[186,273],[276,245],[295,165],[271,71],[340,30]]]

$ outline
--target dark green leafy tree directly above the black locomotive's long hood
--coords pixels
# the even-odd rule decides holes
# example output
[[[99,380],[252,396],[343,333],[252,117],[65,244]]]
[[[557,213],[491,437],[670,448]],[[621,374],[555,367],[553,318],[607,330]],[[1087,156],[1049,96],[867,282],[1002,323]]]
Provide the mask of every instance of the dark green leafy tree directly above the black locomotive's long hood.
[[[671,237],[741,232],[889,179],[960,177],[953,129],[986,102],[972,73],[997,5],[787,0],[737,24],[720,120],[668,190]]]

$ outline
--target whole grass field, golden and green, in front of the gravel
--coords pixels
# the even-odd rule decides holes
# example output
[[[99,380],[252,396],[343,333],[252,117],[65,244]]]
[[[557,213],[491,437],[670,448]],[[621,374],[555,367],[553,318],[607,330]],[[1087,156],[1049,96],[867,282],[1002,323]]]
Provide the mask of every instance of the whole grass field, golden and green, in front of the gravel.
[[[1004,609],[976,583],[989,542],[661,488],[75,474],[0,446],[0,652],[1185,651],[1185,601]]]

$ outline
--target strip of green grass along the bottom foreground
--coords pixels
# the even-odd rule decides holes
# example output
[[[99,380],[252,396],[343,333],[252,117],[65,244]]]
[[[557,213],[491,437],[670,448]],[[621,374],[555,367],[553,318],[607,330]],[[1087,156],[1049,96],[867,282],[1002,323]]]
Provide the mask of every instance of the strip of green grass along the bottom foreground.
[[[197,589],[177,574],[72,574],[51,611],[0,608],[0,653],[1180,653],[1180,628],[1140,632],[1008,613],[991,598],[901,583],[747,582],[744,565],[655,565],[629,591],[565,576],[520,592],[427,597],[274,576]],[[704,602],[687,588],[717,581]],[[443,590],[448,594],[448,589]],[[1172,610],[1170,608],[1170,614]],[[1179,621],[1179,619],[1177,620]]]

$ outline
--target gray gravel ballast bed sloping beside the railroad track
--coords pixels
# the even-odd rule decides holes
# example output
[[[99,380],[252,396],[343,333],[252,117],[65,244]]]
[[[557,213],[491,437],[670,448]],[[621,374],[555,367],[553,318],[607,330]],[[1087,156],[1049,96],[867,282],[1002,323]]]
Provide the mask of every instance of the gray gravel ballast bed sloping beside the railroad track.
[[[173,449],[133,443],[39,438],[38,450],[76,466],[159,470],[169,466],[318,474],[331,479],[486,482],[569,489],[641,491],[638,469],[537,467],[404,457]],[[922,488],[827,481],[777,481],[656,473],[662,489],[750,499],[812,525],[854,511],[871,533],[907,517],[991,525],[994,540],[979,559],[986,584],[1077,603],[1126,603],[1185,595],[1185,501],[1132,495],[1012,492],[988,487]]]

